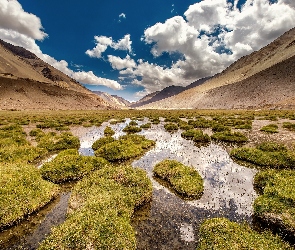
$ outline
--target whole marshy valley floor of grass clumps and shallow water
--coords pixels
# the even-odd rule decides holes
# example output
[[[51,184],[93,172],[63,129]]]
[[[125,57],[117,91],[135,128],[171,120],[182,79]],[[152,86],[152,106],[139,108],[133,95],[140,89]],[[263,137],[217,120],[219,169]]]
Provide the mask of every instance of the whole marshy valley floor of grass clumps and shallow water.
[[[257,249],[292,249],[294,118],[292,111],[2,112],[1,249],[208,249],[210,240],[228,249],[235,243],[222,237],[240,236],[220,225],[244,235],[242,246],[258,239]],[[277,132],[261,130],[268,125]],[[261,143],[288,159],[247,160]],[[250,156],[235,157],[243,148]],[[165,160],[196,171],[201,195],[183,196],[155,176]],[[265,232],[274,218],[282,230]]]

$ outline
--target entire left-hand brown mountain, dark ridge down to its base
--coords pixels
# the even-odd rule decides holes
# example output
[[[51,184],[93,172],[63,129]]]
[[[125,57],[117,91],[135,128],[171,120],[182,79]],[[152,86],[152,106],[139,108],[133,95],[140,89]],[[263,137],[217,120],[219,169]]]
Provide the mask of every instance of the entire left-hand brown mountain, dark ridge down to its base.
[[[0,110],[115,108],[30,51],[0,40]]]

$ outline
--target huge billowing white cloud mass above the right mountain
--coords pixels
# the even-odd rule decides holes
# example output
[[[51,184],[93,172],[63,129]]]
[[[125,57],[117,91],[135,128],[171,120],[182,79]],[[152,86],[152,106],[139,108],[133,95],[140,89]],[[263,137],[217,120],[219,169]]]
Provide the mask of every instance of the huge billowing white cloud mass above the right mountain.
[[[151,53],[180,53],[183,59],[170,68],[139,62],[121,74],[134,77],[133,83],[147,92],[169,83],[185,85],[216,74],[229,64],[267,45],[294,27],[295,2],[278,0],[206,0],[191,5],[182,16],[174,16],[144,31],[143,41],[152,44]],[[138,80],[141,77],[141,80]]]

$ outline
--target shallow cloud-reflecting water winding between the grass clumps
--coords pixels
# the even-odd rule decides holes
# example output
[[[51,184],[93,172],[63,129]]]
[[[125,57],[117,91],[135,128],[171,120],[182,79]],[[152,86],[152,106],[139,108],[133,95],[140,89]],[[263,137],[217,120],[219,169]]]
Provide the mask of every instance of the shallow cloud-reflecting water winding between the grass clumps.
[[[72,130],[80,137],[80,153],[93,154],[91,145],[103,137],[106,126],[116,132],[115,138],[124,135],[122,130],[129,121]],[[137,249],[196,249],[199,226],[207,218],[226,217],[251,224],[252,204],[257,197],[253,189],[254,169],[233,162],[220,145],[196,147],[181,137],[181,131],[166,132],[163,124],[152,125],[138,134],[155,140],[156,146],[132,163],[146,170],[154,188],[152,202],[136,211],[133,218]],[[199,200],[185,201],[153,178],[154,165],[164,159],[175,159],[199,171],[204,178],[204,194]]]

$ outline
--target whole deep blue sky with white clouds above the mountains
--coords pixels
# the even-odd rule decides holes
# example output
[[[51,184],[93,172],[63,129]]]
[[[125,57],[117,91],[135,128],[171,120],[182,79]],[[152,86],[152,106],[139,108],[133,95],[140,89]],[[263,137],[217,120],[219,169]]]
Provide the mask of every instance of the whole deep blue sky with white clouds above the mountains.
[[[0,0],[0,39],[129,101],[219,73],[294,26],[294,0]]]

